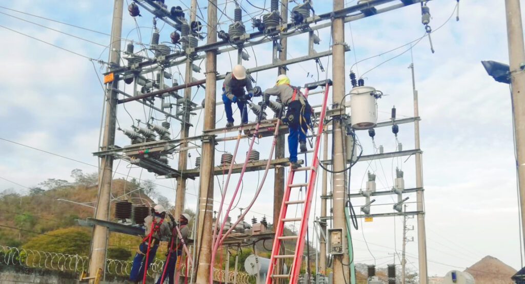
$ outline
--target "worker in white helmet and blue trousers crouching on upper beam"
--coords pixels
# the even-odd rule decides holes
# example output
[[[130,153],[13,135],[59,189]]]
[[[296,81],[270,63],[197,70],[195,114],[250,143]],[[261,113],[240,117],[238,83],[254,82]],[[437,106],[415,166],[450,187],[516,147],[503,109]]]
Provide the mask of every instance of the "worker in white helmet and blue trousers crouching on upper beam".
[[[247,94],[245,93],[248,92]],[[226,127],[233,126],[232,102],[237,103],[241,115],[241,124],[248,123],[248,108],[246,102],[254,96],[254,88],[251,86],[250,78],[246,75],[243,65],[234,66],[232,73],[226,74],[223,84],[223,102],[226,112]]]

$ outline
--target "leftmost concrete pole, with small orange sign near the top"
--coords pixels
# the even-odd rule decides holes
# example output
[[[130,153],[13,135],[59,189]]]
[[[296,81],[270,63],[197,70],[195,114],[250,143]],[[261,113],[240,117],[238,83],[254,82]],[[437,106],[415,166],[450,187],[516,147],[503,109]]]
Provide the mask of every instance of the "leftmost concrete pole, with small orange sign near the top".
[[[119,66],[120,61],[120,37],[122,31],[122,7],[123,0],[114,0],[113,22],[111,24],[110,41],[110,66],[108,71]],[[104,136],[102,139],[102,150],[108,150],[115,143],[115,124],[117,121],[117,92],[119,80],[106,85],[106,119],[104,121]],[[113,156],[102,156],[100,159],[99,170],[99,192],[95,218],[99,220],[109,220],[110,201],[111,201],[111,178],[113,176]],[[108,246],[108,228],[95,225],[93,228],[93,238],[91,240],[91,252],[89,256],[89,275],[97,275],[97,271],[106,269],[106,248]]]

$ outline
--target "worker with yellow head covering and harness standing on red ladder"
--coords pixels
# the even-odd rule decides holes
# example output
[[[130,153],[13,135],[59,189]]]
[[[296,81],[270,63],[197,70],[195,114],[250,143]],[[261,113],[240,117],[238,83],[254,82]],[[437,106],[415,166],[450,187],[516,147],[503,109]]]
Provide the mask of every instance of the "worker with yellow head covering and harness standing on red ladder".
[[[283,122],[288,124],[288,152],[293,169],[300,167],[297,162],[297,146],[300,145],[301,152],[306,152],[306,134],[311,125],[310,116],[312,108],[306,97],[298,87],[290,85],[287,75],[281,74],[277,77],[274,87],[264,91],[264,100],[267,103],[269,96],[279,96],[283,106],[287,106],[286,117]]]

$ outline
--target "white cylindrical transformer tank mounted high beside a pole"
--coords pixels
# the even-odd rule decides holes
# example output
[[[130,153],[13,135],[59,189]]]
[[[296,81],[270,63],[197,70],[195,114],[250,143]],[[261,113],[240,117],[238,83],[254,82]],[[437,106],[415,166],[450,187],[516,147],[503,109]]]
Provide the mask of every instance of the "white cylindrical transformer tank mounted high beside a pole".
[[[355,87],[350,91],[351,113],[347,114],[352,117],[354,129],[369,129],[377,124],[377,102],[370,94],[373,91],[375,88],[369,86]]]

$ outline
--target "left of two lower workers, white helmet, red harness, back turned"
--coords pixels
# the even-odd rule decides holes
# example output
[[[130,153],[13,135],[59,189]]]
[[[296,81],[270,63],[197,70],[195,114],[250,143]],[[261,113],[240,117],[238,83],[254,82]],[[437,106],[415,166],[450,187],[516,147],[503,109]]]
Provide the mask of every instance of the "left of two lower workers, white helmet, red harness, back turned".
[[[170,226],[164,222],[166,211],[164,206],[158,204],[152,209],[152,214],[144,219],[145,237],[139,245],[139,249],[133,258],[133,264],[130,271],[130,280],[134,282],[142,281],[144,276],[144,266],[148,270],[155,253],[159,247],[159,242],[164,236],[170,235]],[[151,237],[151,239],[150,239]],[[148,247],[149,244],[149,247]],[[146,255],[148,261],[146,263]]]

